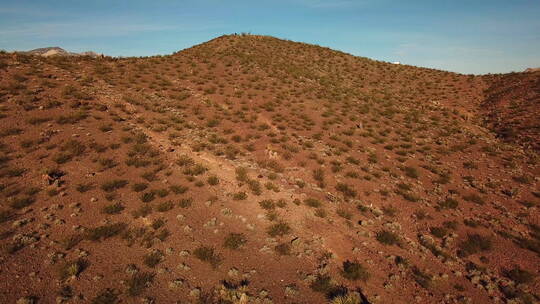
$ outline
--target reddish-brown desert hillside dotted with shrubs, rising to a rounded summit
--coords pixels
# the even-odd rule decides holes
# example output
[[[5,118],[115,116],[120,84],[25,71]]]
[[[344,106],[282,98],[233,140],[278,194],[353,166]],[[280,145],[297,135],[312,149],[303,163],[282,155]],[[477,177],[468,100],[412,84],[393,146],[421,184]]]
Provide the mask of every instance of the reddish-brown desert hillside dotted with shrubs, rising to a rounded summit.
[[[537,303],[539,78],[2,53],[0,302]]]

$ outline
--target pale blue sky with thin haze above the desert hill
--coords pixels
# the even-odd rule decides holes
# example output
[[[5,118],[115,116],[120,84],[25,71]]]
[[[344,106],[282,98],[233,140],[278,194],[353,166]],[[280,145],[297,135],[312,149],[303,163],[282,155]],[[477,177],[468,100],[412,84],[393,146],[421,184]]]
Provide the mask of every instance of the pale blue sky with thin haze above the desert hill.
[[[0,0],[0,49],[169,54],[251,32],[460,73],[540,67],[539,0]]]

